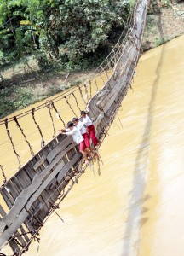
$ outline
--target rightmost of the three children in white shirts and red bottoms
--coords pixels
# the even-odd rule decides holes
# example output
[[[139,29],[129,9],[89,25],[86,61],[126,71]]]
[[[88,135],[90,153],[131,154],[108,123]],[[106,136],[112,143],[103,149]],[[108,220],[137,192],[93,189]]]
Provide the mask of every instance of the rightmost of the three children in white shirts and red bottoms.
[[[81,117],[83,118],[83,121],[81,122],[83,125],[86,125],[89,137],[91,137],[94,146],[97,146],[99,140],[95,136],[95,127],[92,124],[91,119],[89,119],[89,116],[85,113],[85,111],[81,111]]]

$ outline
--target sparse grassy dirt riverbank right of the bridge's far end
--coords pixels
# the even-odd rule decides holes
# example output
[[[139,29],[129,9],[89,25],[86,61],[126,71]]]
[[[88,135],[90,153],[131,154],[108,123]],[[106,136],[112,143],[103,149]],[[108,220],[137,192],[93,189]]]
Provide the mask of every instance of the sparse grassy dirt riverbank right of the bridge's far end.
[[[150,6],[142,42],[143,51],[158,47],[184,34],[184,3]]]

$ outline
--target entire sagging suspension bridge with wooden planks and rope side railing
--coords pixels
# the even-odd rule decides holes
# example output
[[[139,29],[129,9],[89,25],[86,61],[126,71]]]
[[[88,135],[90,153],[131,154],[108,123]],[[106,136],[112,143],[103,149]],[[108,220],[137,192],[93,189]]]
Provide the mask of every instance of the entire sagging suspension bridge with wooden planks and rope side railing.
[[[78,112],[84,108],[89,109],[89,117],[94,120],[97,137],[101,142],[105,139],[135,74],[147,5],[148,0],[137,1],[118,43],[83,84],[78,84],[24,113],[0,121],[6,137],[3,143],[8,142],[10,147],[7,154],[9,150],[13,150],[18,166],[14,176],[9,177],[3,164],[0,165],[3,177],[0,188],[1,250],[3,247],[10,247],[12,255],[22,255],[28,250],[32,240],[38,241],[38,231],[87,168],[82,164],[82,155],[72,143],[72,137],[63,134],[56,136],[55,122],[66,126],[68,119],[62,115],[63,108],[66,108],[71,117],[78,116]],[[100,87],[97,79],[101,79]],[[37,111],[47,114],[52,125],[53,138],[49,138],[49,143],[45,143],[48,138],[44,137]],[[22,125],[24,119],[30,122],[31,133],[28,135]],[[38,152],[32,146],[32,130],[40,136],[42,147]],[[25,150],[30,152],[30,160],[26,160],[26,163],[24,155],[19,152],[19,145],[14,143],[14,132],[18,131]]]

